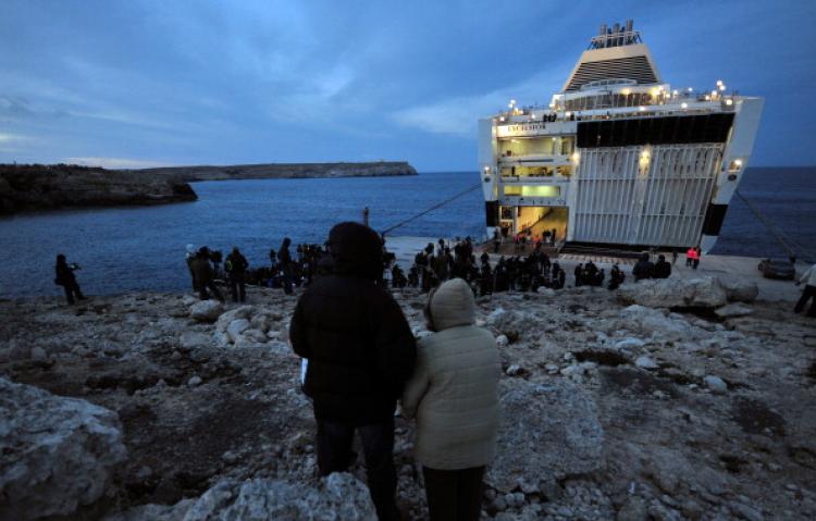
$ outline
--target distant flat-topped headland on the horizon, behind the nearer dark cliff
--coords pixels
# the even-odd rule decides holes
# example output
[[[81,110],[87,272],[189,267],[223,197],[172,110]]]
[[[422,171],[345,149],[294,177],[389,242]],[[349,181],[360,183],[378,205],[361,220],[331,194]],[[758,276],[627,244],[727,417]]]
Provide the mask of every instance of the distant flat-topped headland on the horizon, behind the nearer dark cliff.
[[[265,179],[295,177],[375,177],[417,175],[406,161],[373,163],[268,163],[226,166],[169,166],[137,172],[177,176],[183,181]]]

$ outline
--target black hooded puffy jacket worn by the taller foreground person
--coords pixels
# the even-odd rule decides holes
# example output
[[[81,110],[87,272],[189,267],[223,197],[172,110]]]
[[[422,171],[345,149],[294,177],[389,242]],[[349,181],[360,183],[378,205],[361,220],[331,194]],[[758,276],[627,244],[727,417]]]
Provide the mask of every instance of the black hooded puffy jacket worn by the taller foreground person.
[[[295,307],[292,346],[309,360],[304,388],[318,420],[366,425],[391,420],[413,372],[416,343],[403,310],[381,285],[382,241],[359,223],[329,236],[332,273]]]

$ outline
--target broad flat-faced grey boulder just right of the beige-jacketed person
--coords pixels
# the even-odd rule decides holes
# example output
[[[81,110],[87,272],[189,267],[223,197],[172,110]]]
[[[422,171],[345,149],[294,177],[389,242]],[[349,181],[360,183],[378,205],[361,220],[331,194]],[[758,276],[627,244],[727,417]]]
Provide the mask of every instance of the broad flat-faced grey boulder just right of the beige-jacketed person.
[[[552,483],[602,463],[604,431],[595,402],[557,379],[536,384],[505,379],[499,385],[498,450],[486,483],[503,493]]]

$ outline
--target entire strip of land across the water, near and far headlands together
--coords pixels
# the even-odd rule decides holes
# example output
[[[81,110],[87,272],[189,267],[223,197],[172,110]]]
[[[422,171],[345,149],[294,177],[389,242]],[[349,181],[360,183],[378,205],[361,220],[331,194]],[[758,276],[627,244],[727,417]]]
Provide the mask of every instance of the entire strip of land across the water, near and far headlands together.
[[[195,181],[417,175],[405,161],[270,163],[107,170],[76,164],[0,164],[0,214],[32,210],[195,201]]]

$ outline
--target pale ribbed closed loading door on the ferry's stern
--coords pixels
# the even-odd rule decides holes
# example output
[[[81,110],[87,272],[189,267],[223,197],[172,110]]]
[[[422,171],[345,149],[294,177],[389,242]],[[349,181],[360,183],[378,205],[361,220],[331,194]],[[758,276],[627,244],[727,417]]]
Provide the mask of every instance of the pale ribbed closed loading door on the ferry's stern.
[[[721,154],[721,144],[582,150],[571,240],[696,245]]]

